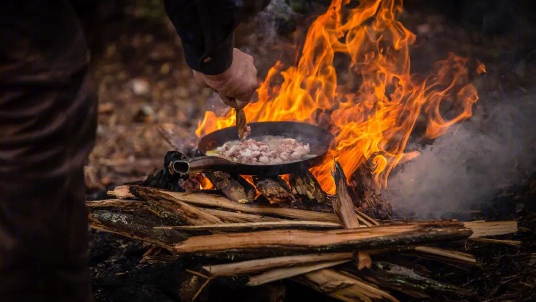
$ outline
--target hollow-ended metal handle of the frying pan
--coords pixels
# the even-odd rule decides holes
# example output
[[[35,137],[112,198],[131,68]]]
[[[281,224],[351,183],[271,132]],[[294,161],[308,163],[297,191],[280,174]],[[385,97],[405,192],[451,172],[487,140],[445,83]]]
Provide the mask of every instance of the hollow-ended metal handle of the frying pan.
[[[237,165],[217,156],[200,156],[173,161],[171,167],[178,174],[198,174],[204,172],[236,172]]]

